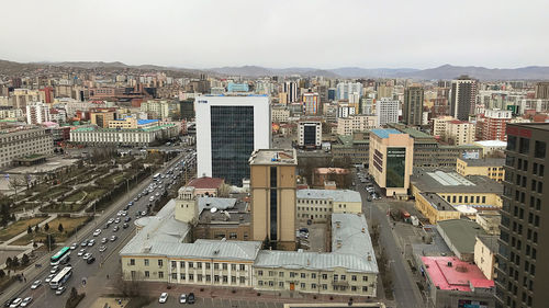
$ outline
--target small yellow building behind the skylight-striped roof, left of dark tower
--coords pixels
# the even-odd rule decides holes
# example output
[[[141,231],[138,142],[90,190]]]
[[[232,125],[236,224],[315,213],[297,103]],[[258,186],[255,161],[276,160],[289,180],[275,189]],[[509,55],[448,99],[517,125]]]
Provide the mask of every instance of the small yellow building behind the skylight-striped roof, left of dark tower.
[[[505,178],[504,158],[462,159],[458,158],[456,172],[467,175],[484,175],[494,181],[502,182]]]

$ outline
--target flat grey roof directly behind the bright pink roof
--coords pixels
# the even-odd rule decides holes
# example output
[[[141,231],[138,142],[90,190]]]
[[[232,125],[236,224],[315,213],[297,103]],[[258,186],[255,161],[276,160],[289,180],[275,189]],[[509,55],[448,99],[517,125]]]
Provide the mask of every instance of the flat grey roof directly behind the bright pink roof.
[[[468,219],[441,220],[438,221],[437,229],[446,235],[451,246],[460,253],[473,253],[477,236],[486,236],[486,231],[479,224]]]

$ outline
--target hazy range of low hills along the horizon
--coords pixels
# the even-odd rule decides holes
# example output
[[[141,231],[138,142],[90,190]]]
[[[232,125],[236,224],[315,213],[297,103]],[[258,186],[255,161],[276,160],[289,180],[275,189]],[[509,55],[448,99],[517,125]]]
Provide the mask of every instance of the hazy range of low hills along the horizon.
[[[120,61],[65,61],[65,62],[30,62],[21,64],[0,60],[0,75],[13,76],[30,72],[47,67],[75,69],[131,69],[143,71],[172,71],[176,76],[194,77],[200,73],[219,77],[271,77],[271,76],[322,76],[326,78],[411,78],[416,80],[455,79],[461,75],[469,75],[480,80],[549,80],[549,67],[530,66],[522,68],[484,68],[473,66],[444,65],[429,69],[414,68],[360,68],[343,67],[335,69],[318,69],[311,67],[266,68],[260,66],[220,67],[211,69],[187,69],[179,67],[163,67],[156,65],[130,66]]]

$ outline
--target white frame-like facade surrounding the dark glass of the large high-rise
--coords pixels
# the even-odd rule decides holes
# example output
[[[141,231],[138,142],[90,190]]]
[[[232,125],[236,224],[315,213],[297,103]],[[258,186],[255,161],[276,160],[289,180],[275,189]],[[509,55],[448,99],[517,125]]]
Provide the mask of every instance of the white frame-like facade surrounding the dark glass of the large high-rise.
[[[268,96],[199,96],[194,100],[194,111],[197,113],[197,172],[200,176],[212,176],[210,113],[212,106],[253,106],[254,150],[269,149],[271,147],[271,116]]]

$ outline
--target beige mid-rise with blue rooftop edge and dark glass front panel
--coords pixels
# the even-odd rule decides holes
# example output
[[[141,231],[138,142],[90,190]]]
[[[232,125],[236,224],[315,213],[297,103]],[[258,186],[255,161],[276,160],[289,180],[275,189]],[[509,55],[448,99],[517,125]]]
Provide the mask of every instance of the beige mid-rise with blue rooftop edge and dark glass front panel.
[[[394,128],[370,132],[370,174],[386,196],[407,198],[414,138]]]

